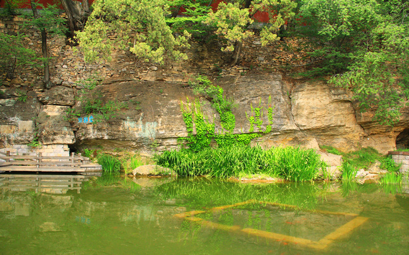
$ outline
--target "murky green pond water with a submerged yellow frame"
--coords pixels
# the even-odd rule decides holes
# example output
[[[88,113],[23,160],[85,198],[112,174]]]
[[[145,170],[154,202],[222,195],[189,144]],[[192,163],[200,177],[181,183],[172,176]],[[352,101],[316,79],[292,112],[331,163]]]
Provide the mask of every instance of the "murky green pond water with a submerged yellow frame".
[[[79,194],[0,189],[0,253],[408,254],[405,191],[115,177]]]

